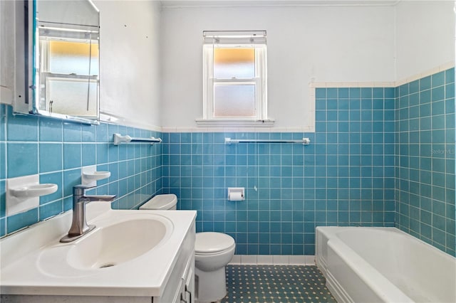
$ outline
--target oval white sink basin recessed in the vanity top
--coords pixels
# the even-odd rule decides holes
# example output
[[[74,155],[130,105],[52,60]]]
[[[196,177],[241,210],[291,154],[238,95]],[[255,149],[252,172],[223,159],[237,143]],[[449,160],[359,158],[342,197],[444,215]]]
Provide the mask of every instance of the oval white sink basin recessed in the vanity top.
[[[135,260],[160,247],[172,233],[172,222],[160,215],[134,216],[93,222],[97,227],[72,243],[43,248],[39,267],[48,275],[84,276]],[[56,260],[60,261],[56,266]],[[63,265],[63,266],[62,266]]]

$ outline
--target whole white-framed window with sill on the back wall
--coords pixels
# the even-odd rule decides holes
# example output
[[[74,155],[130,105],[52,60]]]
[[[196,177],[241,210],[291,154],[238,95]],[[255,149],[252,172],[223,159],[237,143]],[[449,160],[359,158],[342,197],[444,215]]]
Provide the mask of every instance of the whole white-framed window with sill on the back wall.
[[[204,31],[203,38],[203,119],[197,123],[271,126],[266,31]]]

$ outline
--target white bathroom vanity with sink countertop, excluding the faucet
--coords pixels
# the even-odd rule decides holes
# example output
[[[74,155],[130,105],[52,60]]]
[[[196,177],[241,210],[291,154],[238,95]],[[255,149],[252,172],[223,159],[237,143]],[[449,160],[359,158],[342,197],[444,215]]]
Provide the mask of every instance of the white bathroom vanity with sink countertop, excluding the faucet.
[[[0,240],[1,302],[194,302],[195,211],[86,207],[74,242],[71,211]]]

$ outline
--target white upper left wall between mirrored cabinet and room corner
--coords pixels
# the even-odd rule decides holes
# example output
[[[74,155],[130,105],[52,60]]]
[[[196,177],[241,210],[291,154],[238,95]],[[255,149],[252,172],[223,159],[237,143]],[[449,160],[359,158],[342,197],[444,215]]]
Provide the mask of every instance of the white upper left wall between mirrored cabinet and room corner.
[[[100,9],[100,110],[160,129],[160,2],[95,0]]]

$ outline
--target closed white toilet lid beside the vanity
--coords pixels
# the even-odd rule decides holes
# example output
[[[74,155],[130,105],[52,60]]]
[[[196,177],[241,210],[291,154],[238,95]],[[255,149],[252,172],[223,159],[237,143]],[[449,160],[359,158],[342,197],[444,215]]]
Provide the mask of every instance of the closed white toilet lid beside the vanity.
[[[197,233],[195,252],[208,253],[228,250],[234,245],[234,239],[224,233]]]

